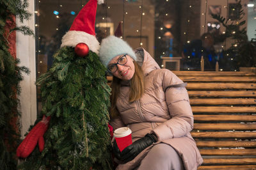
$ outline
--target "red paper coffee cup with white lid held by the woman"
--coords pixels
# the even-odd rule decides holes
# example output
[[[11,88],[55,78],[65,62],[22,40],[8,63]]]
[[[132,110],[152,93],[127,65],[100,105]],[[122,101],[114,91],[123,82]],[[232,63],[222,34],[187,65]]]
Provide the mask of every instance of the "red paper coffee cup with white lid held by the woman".
[[[132,131],[129,127],[116,129],[114,132],[114,137],[120,151],[132,144]]]

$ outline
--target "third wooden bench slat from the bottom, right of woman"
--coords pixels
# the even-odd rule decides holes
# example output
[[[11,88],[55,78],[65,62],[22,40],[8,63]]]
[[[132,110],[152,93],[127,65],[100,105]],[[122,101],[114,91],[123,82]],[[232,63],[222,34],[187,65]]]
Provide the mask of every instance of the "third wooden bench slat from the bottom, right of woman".
[[[200,149],[201,155],[256,155],[256,149]]]

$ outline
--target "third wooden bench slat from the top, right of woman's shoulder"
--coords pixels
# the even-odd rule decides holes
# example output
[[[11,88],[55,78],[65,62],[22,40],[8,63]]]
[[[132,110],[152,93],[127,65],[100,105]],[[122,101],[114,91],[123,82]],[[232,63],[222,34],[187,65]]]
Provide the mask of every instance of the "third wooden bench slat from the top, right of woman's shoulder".
[[[256,89],[256,83],[190,82],[187,89]]]

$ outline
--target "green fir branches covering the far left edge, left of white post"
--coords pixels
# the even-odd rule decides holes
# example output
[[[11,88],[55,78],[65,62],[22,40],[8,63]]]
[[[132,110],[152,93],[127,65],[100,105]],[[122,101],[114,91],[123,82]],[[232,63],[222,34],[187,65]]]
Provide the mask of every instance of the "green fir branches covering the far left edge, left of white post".
[[[2,0],[0,2],[0,167],[1,169],[16,169],[15,151],[20,135],[10,122],[19,116],[17,105],[20,93],[19,82],[22,73],[29,73],[28,68],[19,66],[19,59],[14,59],[9,52],[8,36],[12,31],[21,31],[24,35],[33,35],[26,26],[10,29],[6,21],[15,22],[12,16],[20,21],[28,20],[31,14],[26,10],[28,3],[20,0]],[[6,31],[6,27],[10,31]],[[19,127],[19,125],[17,125]]]

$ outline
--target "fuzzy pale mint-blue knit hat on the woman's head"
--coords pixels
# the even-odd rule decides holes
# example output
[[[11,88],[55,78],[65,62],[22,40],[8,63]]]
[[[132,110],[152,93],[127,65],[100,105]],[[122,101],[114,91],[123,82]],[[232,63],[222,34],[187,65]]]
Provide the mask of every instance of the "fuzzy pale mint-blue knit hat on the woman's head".
[[[111,35],[102,40],[99,56],[100,61],[104,66],[108,66],[108,63],[111,61],[111,59],[122,54],[128,54],[131,56],[131,58],[137,61],[137,57],[132,50],[132,47],[130,47],[130,45],[128,45],[128,43],[121,38],[117,38],[116,36]]]

